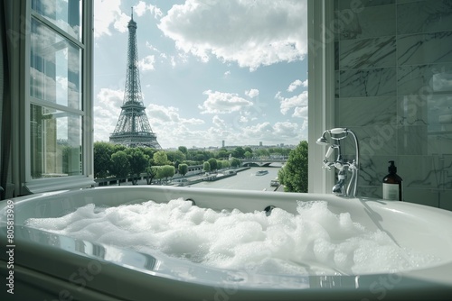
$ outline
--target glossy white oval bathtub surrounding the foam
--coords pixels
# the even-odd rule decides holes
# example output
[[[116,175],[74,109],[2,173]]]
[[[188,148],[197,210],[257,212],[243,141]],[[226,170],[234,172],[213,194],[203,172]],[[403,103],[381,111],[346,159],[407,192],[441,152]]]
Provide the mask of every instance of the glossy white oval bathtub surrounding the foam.
[[[200,207],[242,212],[275,205],[295,213],[297,200],[325,200],[334,213],[348,212],[353,222],[380,229],[400,246],[434,255],[440,262],[392,274],[251,275],[24,226],[28,218],[59,217],[91,203],[117,206],[179,197],[192,199]],[[8,215],[8,209],[14,216]],[[12,234],[7,220],[11,224],[13,217],[11,243],[7,241],[7,234]],[[404,202],[193,187],[98,187],[3,201],[0,227],[6,248],[0,254],[0,270],[6,278],[2,300],[7,300],[3,296],[12,297],[7,292],[11,284],[17,300],[436,300],[452,296],[452,213]]]

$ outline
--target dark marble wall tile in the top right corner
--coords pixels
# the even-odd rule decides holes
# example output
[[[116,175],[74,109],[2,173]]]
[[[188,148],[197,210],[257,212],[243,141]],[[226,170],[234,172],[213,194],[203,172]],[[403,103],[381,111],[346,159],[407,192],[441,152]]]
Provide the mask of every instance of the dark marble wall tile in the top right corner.
[[[416,15],[416,18],[413,18]],[[428,0],[397,5],[397,33],[452,30],[452,2]]]

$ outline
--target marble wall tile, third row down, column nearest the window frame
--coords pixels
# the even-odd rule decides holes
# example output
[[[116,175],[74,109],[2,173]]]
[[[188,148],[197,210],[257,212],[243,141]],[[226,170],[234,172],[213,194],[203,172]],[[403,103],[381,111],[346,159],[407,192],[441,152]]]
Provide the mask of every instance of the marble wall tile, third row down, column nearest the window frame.
[[[340,73],[340,97],[396,95],[396,68],[344,70]]]

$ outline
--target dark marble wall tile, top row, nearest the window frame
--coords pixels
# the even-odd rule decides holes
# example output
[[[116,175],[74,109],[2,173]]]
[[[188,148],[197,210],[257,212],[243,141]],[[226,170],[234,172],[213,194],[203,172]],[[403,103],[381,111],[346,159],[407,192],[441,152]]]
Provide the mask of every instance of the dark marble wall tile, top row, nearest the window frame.
[[[336,12],[336,16],[341,11]],[[337,19],[341,40],[393,36],[396,33],[396,5],[365,7],[347,22]]]

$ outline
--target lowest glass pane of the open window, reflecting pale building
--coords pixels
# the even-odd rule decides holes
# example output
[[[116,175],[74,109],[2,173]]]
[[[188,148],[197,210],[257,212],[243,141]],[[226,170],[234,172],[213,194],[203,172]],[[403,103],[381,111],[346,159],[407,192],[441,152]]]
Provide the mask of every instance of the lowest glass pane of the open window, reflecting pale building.
[[[78,114],[31,105],[32,178],[82,174],[81,125]]]

